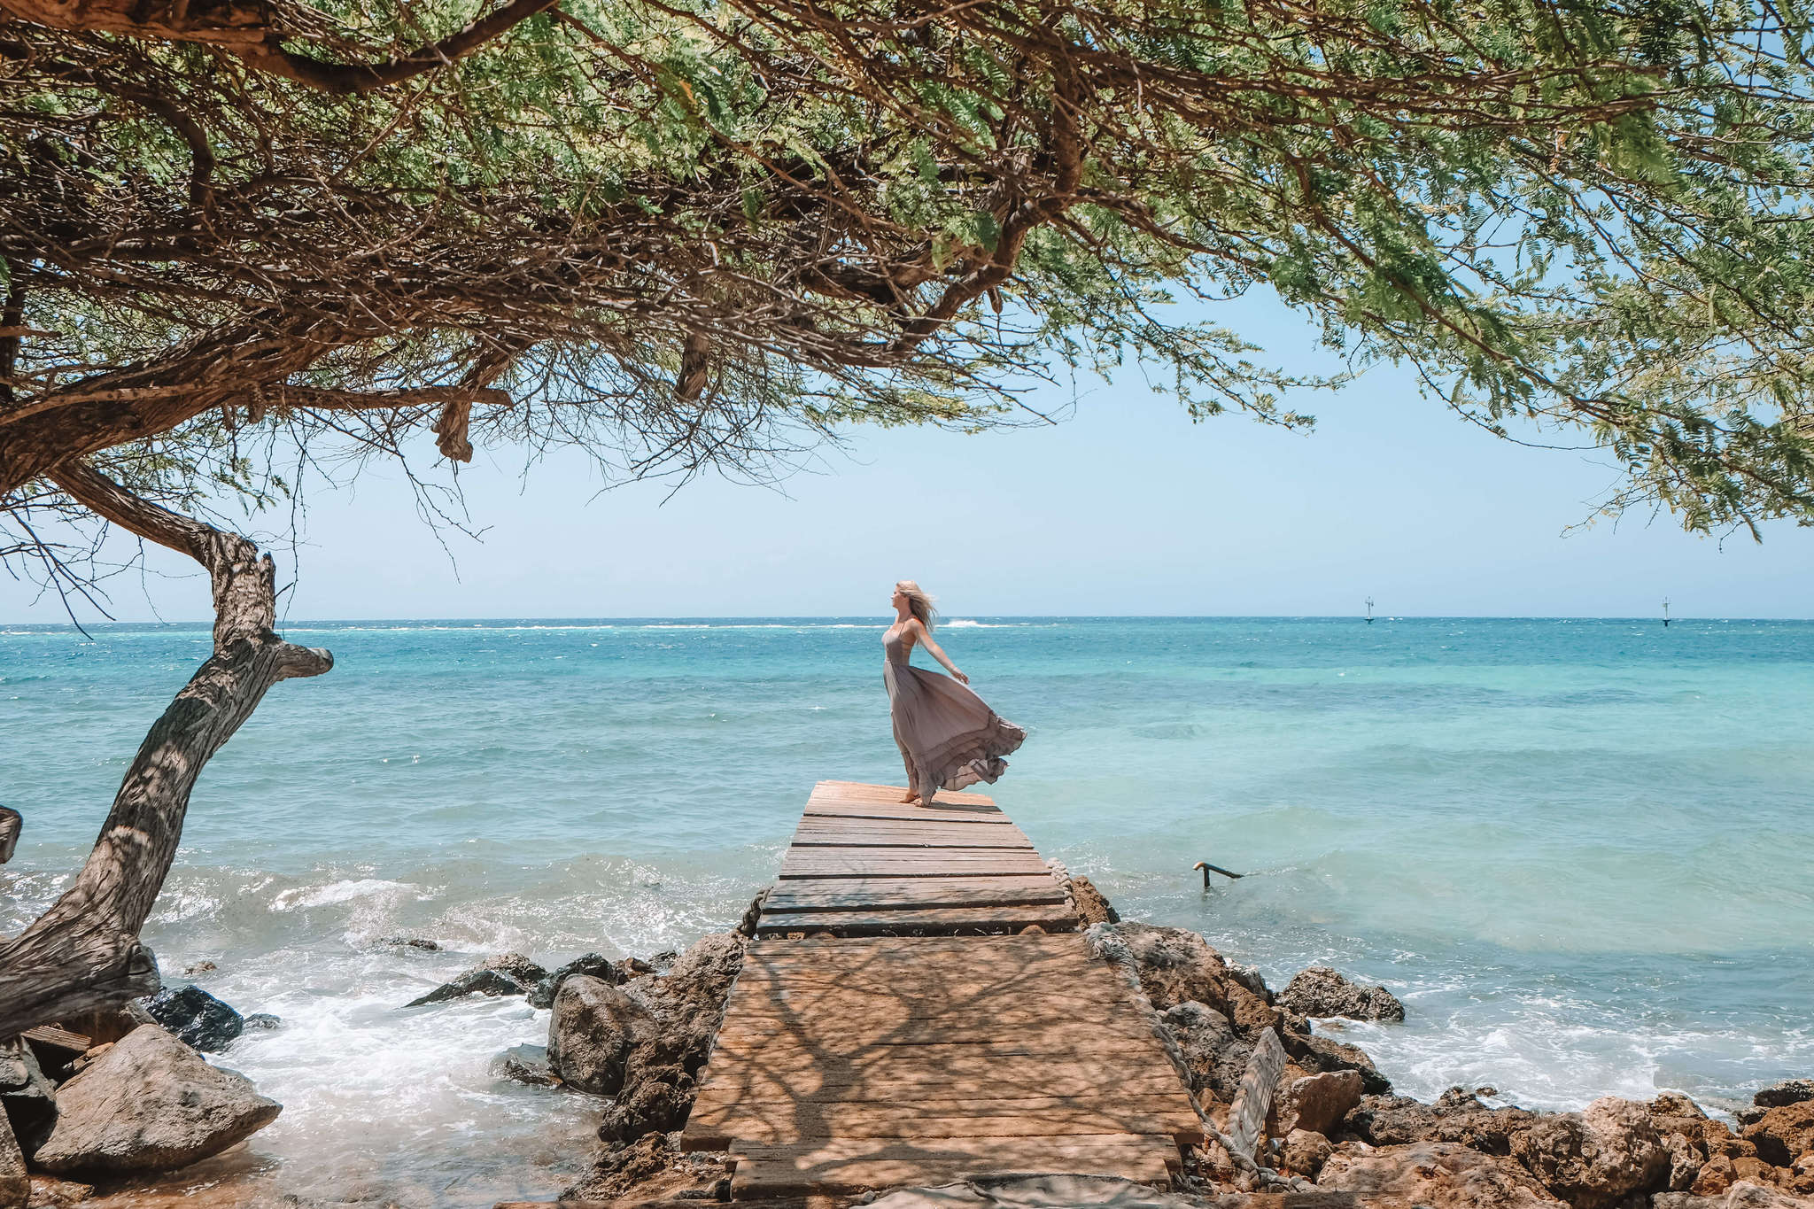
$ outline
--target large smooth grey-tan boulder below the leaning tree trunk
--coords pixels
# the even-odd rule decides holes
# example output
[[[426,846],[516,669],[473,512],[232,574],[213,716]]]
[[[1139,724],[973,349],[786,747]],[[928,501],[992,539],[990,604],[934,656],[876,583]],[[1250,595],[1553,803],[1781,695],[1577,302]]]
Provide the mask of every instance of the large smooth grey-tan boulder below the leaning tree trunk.
[[[56,1093],[56,1126],[33,1162],[53,1173],[187,1167],[241,1142],[283,1106],[209,1066],[161,1028],[136,1028]]]

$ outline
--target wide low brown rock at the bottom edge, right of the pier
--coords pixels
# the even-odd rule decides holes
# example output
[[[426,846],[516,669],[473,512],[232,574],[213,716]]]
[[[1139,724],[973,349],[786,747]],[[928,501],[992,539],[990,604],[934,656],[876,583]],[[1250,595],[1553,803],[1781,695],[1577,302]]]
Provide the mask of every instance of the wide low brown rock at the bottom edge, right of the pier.
[[[1335,1147],[1317,1191],[1380,1196],[1429,1209],[1549,1209],[1556,1198],[1524,1167],[1457,1142]]]

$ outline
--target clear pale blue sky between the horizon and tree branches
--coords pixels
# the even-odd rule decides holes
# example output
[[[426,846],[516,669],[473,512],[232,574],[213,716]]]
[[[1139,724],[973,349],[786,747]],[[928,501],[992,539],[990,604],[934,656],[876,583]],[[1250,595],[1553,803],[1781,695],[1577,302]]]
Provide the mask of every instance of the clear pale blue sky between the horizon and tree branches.
[[[1277,306],[1237,305],[1292,368],[1330,368]],[[1226,315],[1224,323],[1234,323]],[[484,538],[415,518],[397,477],[310,495],[290,618],[874,614],[918,578],[965,614],[1810,616],[1814,533],[1691,537],[1671,517],[1567,531],[1618,477],[1604,455],[1497,440],[1371,370],[1293,401],[1310,433],[1201,424],[1136,375],[1054,428],[854,430],[784,493],[722,480],[599,495],[579,457],[481,450],[461,475]],[[1567,531],[1567,533],[1565,533]],[[198,620],[207,584],[116,580],[122,620]],[[0,578],[0,620],[58,622]]]

